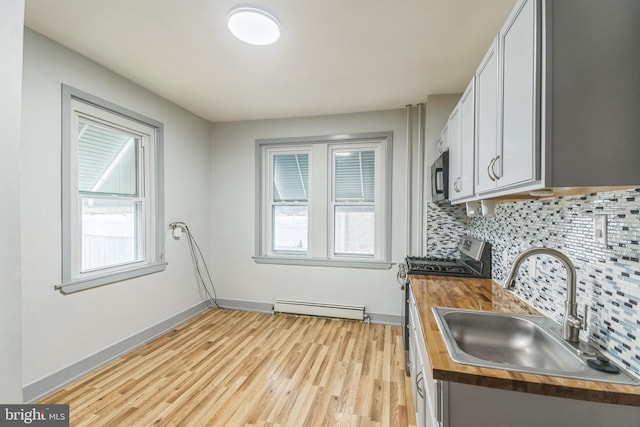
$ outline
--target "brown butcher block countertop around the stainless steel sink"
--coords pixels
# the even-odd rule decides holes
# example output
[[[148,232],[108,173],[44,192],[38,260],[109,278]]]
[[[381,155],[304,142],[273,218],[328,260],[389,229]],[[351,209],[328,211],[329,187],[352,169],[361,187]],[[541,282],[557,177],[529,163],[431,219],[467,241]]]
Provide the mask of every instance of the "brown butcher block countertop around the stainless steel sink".
[[[411,275],[410,283],[434,379],[546,396],[640,406],[640,386],[574,380],[454,362],[449,357],[431,311],[432,307],[540,313],[491,279]]]

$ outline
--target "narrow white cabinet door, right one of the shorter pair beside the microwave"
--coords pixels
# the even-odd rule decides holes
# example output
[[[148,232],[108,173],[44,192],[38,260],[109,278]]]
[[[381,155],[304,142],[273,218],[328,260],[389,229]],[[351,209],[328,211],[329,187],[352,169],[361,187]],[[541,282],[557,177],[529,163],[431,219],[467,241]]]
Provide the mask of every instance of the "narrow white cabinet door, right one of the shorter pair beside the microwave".
[[[462,151],[460,199],[474,195],[475,111],[475,78],[473,78],[460,99],[460,144]]]

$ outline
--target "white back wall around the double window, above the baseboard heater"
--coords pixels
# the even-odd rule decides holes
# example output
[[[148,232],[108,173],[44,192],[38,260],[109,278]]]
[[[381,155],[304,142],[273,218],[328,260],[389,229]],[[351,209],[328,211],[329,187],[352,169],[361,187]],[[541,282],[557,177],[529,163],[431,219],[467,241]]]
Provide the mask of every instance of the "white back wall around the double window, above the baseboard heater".
[[[364,304],[367,312],[399,316],[397,268],[366,270],[256,264],[255,140],[393,131],[392,260],[405,256],[404,110],[219,123],[213,126],[211,264],[218,296],[273,303],[275,298]]]

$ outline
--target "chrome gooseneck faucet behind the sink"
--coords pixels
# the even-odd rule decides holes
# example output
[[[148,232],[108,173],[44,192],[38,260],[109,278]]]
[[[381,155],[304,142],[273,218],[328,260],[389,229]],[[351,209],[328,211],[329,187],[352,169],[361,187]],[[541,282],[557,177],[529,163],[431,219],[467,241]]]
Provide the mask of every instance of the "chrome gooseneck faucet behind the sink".
[[[576,268],[565,254],[557,249],[530,248],[516,257],[507,275],[504,287],[512,289],[516,285],[516,276],[522,262],[532,255],[550,255],[560,261],[567,271],[567,300],[564,303],[564,316],[562,317],[562,338],[566,341],[577,343],[580,341],[580,329],[585,325],[578,317],[578,304],[576,303]]]

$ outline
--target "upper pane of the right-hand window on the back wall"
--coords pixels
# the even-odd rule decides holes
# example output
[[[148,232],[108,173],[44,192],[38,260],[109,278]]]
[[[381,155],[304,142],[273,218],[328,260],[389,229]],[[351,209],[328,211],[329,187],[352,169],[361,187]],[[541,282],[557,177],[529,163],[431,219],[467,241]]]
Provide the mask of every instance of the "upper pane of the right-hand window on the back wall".
[[[375,151],[335,153],[335,200],[373,202]]]

